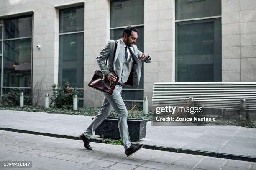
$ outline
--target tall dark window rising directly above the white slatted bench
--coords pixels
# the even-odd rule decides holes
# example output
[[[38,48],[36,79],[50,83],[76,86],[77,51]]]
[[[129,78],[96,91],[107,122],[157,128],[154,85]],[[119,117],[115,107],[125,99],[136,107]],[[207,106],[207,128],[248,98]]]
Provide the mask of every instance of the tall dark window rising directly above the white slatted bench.
[[[221,0],[176,0],[175,12],[175,81],[221,81]]]

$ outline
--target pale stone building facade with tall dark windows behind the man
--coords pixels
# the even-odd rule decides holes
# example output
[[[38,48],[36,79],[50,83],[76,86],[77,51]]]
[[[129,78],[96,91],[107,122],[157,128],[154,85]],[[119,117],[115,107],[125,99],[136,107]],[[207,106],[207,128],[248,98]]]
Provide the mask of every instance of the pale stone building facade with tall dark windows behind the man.
[[[87,86],[95,58],[128,25],[153,60],[138,89],[123,87],[128,107],[151,103],[154,82],[256,81],[256,0],[3,0],[1,95],[31,95],[41,82],[51,96],[67,81],[83,91],[80,107],[101,106],[102,92]]]

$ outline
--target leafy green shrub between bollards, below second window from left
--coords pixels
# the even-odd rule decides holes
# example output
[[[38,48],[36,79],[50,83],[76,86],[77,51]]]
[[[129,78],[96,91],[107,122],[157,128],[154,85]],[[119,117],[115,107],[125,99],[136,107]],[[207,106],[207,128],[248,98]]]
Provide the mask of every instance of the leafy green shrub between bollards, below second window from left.
[[[52,97],[51,106],[56,108],[68,109],[73,108],[73,95],[77,97],[82,96],[82,91],[78,91],[77,88],[72,88],[69,82],[65,82],[63,86],[52,85]]]

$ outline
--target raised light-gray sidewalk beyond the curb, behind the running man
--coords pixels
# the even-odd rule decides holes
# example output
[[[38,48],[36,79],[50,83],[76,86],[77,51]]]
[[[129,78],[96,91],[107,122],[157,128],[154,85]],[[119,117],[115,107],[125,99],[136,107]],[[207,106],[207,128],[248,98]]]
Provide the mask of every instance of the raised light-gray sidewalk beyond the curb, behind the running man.
[[[0,128],[13,128],[40,133],[79,137],[91,122],[82,115],[48,114],[0,110]],[[97,136],[96,136],[97,137]],[[238,155],[256,160],[256,129],[235,126],[151,126],[148,122],[146,138],[136,143],[160,146],[176,151]],[[148,148],[149,148],[148,147]],[[193,152],[192,152],[193,153]],[[227,156],[227,157],[226,157]],[[232,158],[234,159],[234,158]]]

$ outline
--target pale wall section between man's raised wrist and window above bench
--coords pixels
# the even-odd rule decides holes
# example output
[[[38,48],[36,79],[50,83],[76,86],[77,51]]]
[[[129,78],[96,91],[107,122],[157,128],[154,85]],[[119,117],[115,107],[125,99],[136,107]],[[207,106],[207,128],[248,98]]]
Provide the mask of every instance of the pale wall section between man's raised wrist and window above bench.
[[[144,1],[144,52],[153,62],[144,65],[144,96],[149,105],[154,82],[174,82],[175,0]]]

